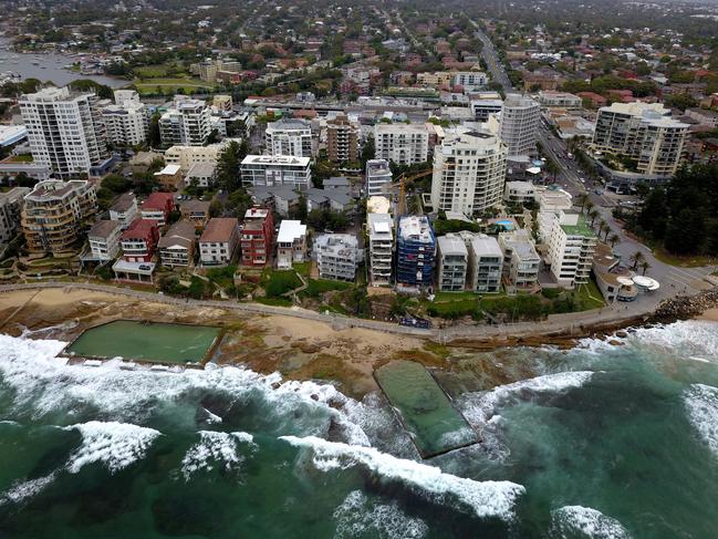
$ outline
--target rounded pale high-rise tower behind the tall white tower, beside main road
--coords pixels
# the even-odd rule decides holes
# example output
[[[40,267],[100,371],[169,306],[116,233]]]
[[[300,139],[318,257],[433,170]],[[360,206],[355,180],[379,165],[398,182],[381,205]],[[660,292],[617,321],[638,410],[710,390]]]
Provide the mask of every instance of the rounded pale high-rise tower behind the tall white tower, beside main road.
[[[511,158],[535,151],[541,122],[541,106],[528,95],[508,94],[501,111],[499,136],[509,148]]]

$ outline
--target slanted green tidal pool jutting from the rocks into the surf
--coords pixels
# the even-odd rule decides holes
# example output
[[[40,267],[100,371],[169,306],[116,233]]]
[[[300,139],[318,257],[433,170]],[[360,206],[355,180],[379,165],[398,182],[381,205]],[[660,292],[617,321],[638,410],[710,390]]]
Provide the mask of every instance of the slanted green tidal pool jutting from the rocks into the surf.
[[[478,442],[476,432],[420,363],[393,361],[377,369],[374,375],[414,435],[423,457]]]

